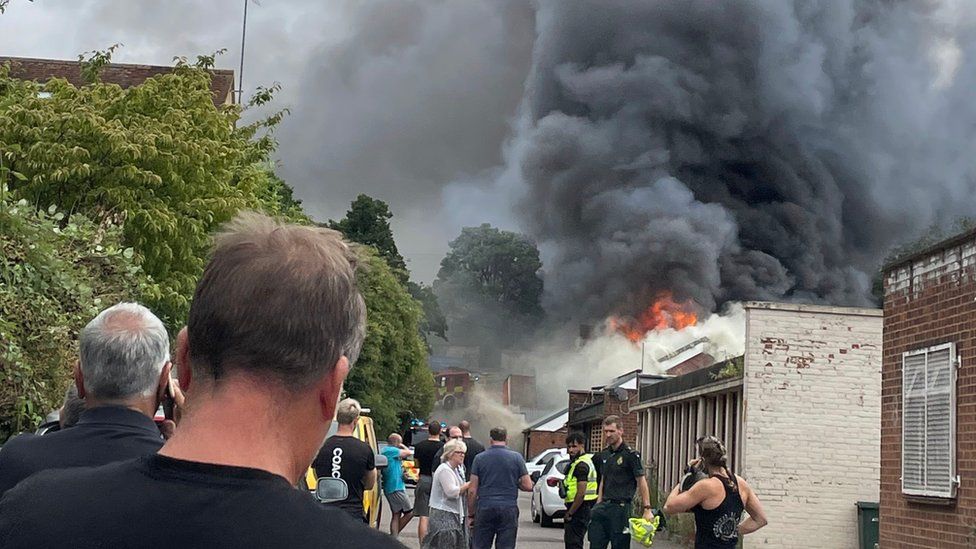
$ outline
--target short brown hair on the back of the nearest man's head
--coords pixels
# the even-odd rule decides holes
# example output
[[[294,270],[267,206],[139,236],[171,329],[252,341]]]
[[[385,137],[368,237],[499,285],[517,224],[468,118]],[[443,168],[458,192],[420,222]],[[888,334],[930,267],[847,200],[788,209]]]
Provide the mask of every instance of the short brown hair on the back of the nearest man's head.
[[[366,306],[356,259],[331,229],[243,213],[215,239],[187,322],[195,379],[255,376],[297,393],[356,361]]]

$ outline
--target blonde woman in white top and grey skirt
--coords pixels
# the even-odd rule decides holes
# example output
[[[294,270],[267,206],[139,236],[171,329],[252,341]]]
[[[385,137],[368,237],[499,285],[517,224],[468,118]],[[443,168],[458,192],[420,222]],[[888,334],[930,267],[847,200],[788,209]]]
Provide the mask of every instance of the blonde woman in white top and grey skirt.
[[[429,530],[424,549],[467,549],[468,532],[464,527],[464,497],[470,482],[464,482],[459,467],[464,464],[467,445],[449,440],[441,454],[441,464],[434,471],[430,490]]]

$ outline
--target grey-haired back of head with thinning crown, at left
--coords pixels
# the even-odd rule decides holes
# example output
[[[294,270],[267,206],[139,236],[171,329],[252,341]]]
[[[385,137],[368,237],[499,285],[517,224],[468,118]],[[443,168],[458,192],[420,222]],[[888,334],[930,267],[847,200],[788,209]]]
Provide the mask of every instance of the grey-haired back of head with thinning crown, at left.
[[[99,313],[81,331],[78,347],[89,400],[150,396],[169,360],[166,328],[137,303],[119,303]]]

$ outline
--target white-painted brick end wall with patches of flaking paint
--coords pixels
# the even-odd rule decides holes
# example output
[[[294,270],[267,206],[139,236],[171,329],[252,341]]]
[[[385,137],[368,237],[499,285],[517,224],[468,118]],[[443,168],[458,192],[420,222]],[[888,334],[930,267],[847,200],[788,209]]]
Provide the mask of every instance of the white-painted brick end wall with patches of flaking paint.
[[[746,306],[740,474],[769,525],[744,546],[857,547],[857,501],[878,501],[879,309]]]

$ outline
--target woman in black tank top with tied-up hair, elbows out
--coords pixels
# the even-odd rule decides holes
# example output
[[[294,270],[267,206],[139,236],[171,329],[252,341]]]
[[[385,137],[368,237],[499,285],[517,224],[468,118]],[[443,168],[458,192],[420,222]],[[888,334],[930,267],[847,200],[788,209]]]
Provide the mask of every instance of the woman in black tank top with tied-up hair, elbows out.
[[[745,479],[729,470],[721,440],[707,436],[696,445],[699,457],[688,464],[688,473],[701,480],[684,491],[679,482],[671,490],[664,512],[695,513],[695,549],[732,549],[739,536],[766,525],[766,513]],[[746,520],[742,520],[743,510],[749,513]]]

